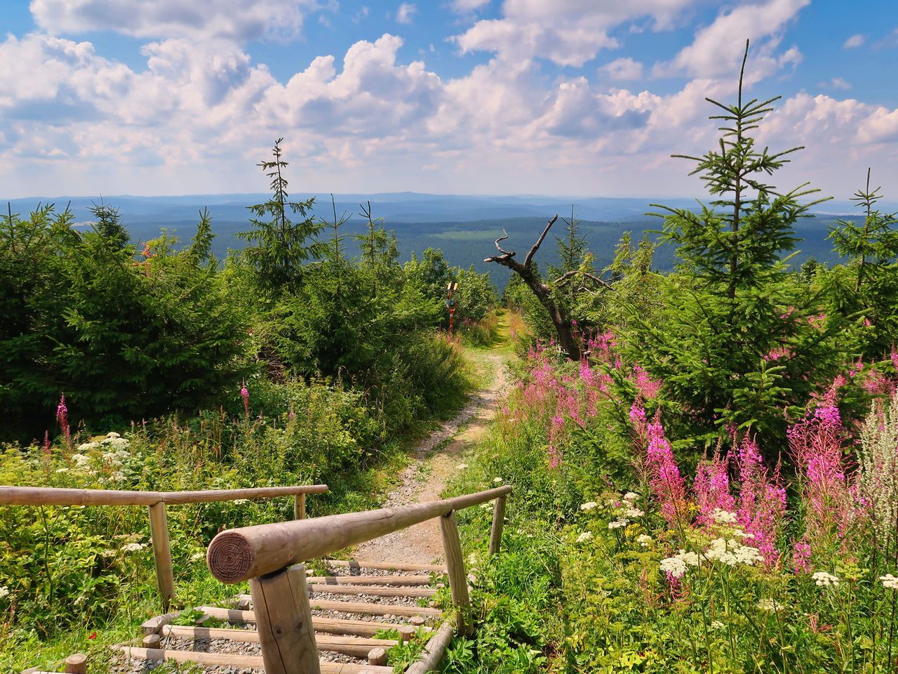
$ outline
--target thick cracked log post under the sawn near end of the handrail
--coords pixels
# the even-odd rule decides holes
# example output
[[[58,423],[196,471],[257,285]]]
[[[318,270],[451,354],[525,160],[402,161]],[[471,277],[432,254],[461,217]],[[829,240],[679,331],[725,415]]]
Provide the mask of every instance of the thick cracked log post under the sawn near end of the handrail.
[[[304,566],[253,578],[250,592],[266,674],[321,674]]]

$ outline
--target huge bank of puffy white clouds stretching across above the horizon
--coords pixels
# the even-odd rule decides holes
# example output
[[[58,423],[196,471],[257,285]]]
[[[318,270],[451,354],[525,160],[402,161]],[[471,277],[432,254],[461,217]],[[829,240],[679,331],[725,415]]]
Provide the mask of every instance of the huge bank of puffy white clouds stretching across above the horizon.
[[[799,58],[778,38],[759,40],[767,74]],[[704,97],[732,100],[738,67],[660,94],[635,83],[640,64],[625,57],[606,64],[598,84],[550,79],[539,59],[507,50],[445,79],[421,60],[403,62],[401,45],[389,34],[359,41],[284,83],[231,39],[155,40],[142,50],[145,65],[131,68],[89,42],[9,36],[0,40],[0,184],[19,194],[38,184],[55,193],[264,191],[254,164],[284,136],[297,192],[700,193],[689,165],[669,155],[714,146]],[[625,74],[629,89],[609,86]],[[808,147],[778,184],[811,179],[845,196],[845,174],[862,173],[870,157],[882,182],[898,181],[892,108],[799,93],[764,120],[762,142]]]

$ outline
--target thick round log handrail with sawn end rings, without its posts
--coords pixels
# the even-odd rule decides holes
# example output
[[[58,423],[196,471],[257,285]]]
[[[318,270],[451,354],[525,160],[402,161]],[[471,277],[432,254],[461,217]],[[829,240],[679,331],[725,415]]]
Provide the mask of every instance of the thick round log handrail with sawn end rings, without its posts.
[[[453,510],[507,496],[510,492],[511,487],[506,485],[486,492],[399,508],[228,529],[212,539],[206,561],[209,571],[219,581],[249,581],[427,519],[448,515]]]

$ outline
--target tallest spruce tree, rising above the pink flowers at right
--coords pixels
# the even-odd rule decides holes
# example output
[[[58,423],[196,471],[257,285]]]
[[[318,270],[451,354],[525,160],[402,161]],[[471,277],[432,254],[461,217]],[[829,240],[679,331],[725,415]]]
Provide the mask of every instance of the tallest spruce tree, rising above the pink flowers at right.
[[[769,177],[788,162],[791,147],[771,152],[753,130],[779,97],[745,101],[739,73],[733,104],[718,108],[717,147],[693,161],[712,199],[694,210],[667,208],[662,241],[674,244],[677,273],[666,279],[654,322],[634,315],[632,357],[665,382],[684,418],[712,439],[728,428],[781,438],[784,410],[798,412],[818,386],[832,381],[844,353],[835,345],[838,317],[822,313],[819,297],[788,273],[799,217],[821,200],[807,183],[778,191]]]

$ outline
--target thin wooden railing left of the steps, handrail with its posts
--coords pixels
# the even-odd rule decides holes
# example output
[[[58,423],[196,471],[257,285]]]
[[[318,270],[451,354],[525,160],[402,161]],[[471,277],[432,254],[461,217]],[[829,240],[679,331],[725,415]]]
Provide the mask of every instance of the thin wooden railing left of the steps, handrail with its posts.
[[[169,542],[166,505],[293,496],[294,518],[304,519],[306,494],[327,491],[327,484],[219,489],[203,492],[125,492],[105,489],[0,486],[0,505],[146,506],[150,514],[150,537],[153,541],[156,585],[159,588],[159,597],[162,600],[163,611],[167,611],[175,599],[175,594],[174,572],[172,571],[172,545]]]

